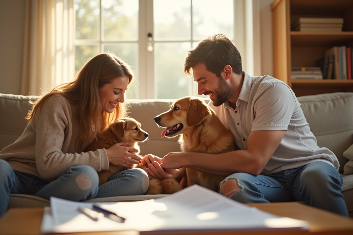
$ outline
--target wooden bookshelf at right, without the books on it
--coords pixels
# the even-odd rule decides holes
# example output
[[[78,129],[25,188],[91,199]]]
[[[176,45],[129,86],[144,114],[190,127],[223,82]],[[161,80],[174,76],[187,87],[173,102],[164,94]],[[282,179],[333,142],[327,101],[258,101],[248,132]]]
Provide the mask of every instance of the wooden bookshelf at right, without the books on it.
[[[275,0],[273,15],[274,77],[285,81],[297,96],[353,92],[353,80],[291,79],[292,67],[315,67],[325,50],[353,47],[353,0]],[[343,18],[342,32],[291,31],[299,17]]]

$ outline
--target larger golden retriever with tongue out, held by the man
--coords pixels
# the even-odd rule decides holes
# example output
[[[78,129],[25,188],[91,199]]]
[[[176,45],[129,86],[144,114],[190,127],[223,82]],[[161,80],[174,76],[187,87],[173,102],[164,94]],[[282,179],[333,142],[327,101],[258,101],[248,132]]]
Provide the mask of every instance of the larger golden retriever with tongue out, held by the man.
[[[175,101],[169,111],[155,117],[158,126],[166,128],[161,137],[180,135],[184,152],[220,154],[235,150],[234,137],[221,123],[216,113],[198,97]],[[219,192],[225,177],[186,168],[187,186],[198,184]]]

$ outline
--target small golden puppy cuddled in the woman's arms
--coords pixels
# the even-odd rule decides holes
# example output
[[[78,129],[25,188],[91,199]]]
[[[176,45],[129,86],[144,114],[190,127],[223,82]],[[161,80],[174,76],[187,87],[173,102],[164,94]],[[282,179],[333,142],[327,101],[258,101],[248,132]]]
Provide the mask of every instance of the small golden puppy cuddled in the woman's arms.
[[[144,142],[148,138],[148,133],[141,129],[141,124],[133,118],[120,118],[111,123],[108,128],[100,131],[95,141],[93,141],[85,151],[96,151],[97,149],[109,148],[113,144],[124,142],[128,146],[138,150],[138,142]],[[138,154],[131,152],[133,154]],[[146,171],[143,163],[133,164],[132,168],[138,167]],[[99,186],[106,183],[113,174],[126,170],[126,167],[109,164],[108,170],[98,172]],[[171,194],[181,190],[180,184],[175,179],[160,180],[150,179],[148,190],[145,194]]]

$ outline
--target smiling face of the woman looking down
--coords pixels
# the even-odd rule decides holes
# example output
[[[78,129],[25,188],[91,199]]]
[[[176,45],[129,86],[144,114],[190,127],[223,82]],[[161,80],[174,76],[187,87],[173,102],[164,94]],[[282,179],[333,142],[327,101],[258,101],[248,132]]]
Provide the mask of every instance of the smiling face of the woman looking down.
[[[127,89],[128,82],[128,76],[122,76],[115,78],[112,83],[98,88],[102,111],[112,113],[119,102],[124,103],[124,92]]]

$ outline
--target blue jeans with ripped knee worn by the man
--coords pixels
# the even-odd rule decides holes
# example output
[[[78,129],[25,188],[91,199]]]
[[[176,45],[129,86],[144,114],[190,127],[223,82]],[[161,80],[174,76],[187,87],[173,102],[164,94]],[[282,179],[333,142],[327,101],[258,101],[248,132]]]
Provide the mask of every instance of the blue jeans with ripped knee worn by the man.
[[[269,175],[235,173],[240,191],[230,198],[241,203],[305,201],[307,205],[348,217],[341,193],[342,176],[330,164],[315,161],[306,166]]]

